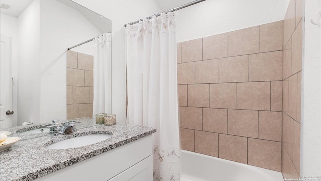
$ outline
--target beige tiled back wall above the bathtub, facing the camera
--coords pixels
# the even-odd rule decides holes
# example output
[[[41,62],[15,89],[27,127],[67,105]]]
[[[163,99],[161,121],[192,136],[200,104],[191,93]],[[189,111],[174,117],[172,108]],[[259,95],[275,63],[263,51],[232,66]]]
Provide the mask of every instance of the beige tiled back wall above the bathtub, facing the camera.
[[[283,21],[181,42],[177,52],[182,149],[281,171]]]

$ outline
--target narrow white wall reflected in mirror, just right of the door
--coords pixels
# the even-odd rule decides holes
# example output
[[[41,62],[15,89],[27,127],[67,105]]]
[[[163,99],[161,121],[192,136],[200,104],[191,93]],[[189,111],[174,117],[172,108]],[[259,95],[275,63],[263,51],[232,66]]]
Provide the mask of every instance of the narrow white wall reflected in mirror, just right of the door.
[[[18,18],[17,122],[39,120],[40,0],[33,1]],[[13,67],[15,68],[15,67]]]

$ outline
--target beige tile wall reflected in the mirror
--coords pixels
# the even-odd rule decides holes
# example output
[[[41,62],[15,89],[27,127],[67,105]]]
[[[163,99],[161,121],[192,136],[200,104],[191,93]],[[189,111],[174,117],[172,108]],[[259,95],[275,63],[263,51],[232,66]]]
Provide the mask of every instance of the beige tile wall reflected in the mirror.
[[[93,56],[67,51],[67,119],[92,117]]]

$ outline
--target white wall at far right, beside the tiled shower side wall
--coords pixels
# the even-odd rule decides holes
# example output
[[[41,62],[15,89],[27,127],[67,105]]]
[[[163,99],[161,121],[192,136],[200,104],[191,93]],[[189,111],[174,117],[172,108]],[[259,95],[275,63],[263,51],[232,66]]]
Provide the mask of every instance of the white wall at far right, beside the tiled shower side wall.
[[[301,178],[321,170],[321,28],[316,21],[321,1],[305,1],[302,65]],[[308,177],[307,177],[308,178]]]

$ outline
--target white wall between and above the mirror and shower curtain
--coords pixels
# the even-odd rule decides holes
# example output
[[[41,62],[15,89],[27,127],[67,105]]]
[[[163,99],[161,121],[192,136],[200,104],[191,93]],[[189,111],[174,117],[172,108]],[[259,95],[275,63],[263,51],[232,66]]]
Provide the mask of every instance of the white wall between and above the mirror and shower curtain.
[[[75,2],[103,14],[112,21],[112,113],[117,122],[126,118],[126,71],[124,24],[159,13],[153,0],[74,0]]]

